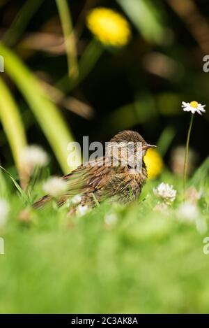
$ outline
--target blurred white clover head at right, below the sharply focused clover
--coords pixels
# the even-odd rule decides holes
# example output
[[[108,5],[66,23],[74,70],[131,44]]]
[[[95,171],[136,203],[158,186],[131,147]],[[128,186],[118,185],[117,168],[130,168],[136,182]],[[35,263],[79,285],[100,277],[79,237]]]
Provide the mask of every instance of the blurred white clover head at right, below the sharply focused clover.
[[[199,212],[199,208],[189,201],[181,204],[177,210],[178,219],[187,222],[195,222],[199,219],[200,215],[201,213]]]

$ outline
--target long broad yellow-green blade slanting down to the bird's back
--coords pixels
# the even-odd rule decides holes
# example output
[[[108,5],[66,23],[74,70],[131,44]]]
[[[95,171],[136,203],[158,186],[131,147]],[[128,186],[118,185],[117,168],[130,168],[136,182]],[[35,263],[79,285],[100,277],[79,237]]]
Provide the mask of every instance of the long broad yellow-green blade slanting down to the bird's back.
[[[75,162],[69,167],[67,162],[68,143],[74,138],[59,113],[59,109],[47,98],[38,79],[33,76],[33,73],[14,52],[0,43],[0,53],[6,62],[6,72],[16,83],[31,110],[33,110],[33,114],[54,150],[63,172],[68,173],[70,169],[74,169],[79,164],[79,156],[77,155]]]

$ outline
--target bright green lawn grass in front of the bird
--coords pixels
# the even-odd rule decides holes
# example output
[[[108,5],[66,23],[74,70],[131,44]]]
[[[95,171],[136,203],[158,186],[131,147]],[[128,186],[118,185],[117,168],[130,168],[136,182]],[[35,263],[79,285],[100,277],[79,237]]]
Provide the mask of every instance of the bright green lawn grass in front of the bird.
[[[164,173],[146,185],[137,204],[102,204],[81,218],[49,206],[27,224],[17,220],[24,199],[8,187],[10,218],[0,231],[0,312],[208,313],[207,234],[153,211],[152,189],[160,181],[178,190],[174,211],[182,181]],[[208,200],[200,206],[207,220]],[[107,227],[104,215],[113,208],[118,221]]]

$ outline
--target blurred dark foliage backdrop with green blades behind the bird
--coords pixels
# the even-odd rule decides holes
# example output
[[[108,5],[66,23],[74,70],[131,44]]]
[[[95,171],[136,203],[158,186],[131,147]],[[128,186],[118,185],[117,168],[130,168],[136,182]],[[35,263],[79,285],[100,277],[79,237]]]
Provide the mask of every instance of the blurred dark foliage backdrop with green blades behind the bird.
[[[70,170],[66,144],[72,134],[78,141],[85,134],[107,141],[116,131],[136,129],[150,142],[166,144],[166,159],[175,145],[185,143],[188,117],[180,104],[194,99],[207,104],[203,55],[209,52],[208,3],[186,1],[185,7],[178,0],[57,0],[50,7],[44,0],[1,1],[0,55],[6,56],[1,78],[29,143],[47,148],[43,132],[63,171]],[[125,48],[104,47],[86,29],[86,15],[96,6],[127,17],[132,40]],[[208,155],[208,117],[207,111],[196,118],[192,138],[201,159]],[[173,131],[168,140],[167,125]],[[10,166],[5,132],[0,131],[1,163]],[[15,157],[14,142],[8,141]],[[54,159],[52,164],[57,171]]]

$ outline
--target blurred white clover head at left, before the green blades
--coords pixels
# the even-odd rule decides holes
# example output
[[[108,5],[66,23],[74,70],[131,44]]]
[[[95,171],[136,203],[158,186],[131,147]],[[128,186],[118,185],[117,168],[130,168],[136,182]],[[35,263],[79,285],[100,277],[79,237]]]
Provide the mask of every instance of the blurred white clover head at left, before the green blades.
[[[29,174],[32,174],[36,167],[45,166],[48,162],[47,153],[38,145],[26,146],[22,151],[22,164]]]

